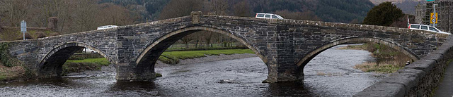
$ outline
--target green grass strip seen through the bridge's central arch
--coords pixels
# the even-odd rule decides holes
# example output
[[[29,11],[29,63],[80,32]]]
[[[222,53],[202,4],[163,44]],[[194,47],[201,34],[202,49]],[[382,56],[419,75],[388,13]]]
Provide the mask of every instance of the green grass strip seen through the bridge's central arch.
[[[243,53],[254,53],[250,49],[225,49],[225,50],[208,50],[208,51],[171,51],[164,52],[162,55],[174,56],[178,59],[189,59],[189,58],[202,58],[208,56],[219,56],[220,54],[231,55],[231,54],[243,54]],[[167,57],[168,58],[168,57]]]

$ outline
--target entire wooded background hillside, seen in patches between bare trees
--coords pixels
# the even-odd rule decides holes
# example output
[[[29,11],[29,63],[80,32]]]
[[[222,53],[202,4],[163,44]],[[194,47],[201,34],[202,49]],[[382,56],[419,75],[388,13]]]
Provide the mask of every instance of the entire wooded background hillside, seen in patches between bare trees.
[[[229,15],[234,15],[234,6],[243,0],[227,0],[229,6]],[[277,11],[291,11],[302,13],[314,13],[316,17],[326,22],[351,22],[352,20],[362,21],[367,15],[369,9],[374,4],[368,0],[246,0],[248,2],[248,10],[254,13],[276,13]],[[203,1],[206,3],[207,1]],[[162,8],[166,6],[168,0],[134,0],[134,1],[121,1],[121,0],[102,0],[100,3],[114,3],[125,6],[131,11],[139,11],[137,6],[145,8],[139,11],[142,12],[144,18],[147,20],[156,20]],[[209,4],[203,4],[203,8],[208,8]],[[135,9],[134,9],[135,8]],[[210,11],[204,9],[204,11]],[[205,12],[206,13],[206,12]]]

